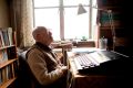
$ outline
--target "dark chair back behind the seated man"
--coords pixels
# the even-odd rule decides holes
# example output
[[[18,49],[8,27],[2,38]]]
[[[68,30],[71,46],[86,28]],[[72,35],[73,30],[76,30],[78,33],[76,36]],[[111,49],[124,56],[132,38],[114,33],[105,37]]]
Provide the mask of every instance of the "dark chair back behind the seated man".
[[[44,88],[42,87],[33,74],[27,63],[25,57],[27,51],[19,53],[19,70],[18,70],[18,82],[19,88]]]

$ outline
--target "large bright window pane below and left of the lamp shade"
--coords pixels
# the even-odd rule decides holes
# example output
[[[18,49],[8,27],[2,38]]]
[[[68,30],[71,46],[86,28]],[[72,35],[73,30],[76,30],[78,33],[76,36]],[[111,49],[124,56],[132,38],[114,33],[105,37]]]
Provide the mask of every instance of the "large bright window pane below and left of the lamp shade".
[[[89,13],[78,15],[78,8],[65,8],[64,11],[64,37],[89,38]]]

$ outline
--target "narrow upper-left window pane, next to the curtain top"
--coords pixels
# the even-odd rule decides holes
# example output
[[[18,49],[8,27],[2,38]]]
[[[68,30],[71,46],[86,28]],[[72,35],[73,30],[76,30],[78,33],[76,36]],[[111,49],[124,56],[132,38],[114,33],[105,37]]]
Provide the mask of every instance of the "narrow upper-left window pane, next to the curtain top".
[[[55,7],[59,6],[59,0],[34,0],[34,7]]]

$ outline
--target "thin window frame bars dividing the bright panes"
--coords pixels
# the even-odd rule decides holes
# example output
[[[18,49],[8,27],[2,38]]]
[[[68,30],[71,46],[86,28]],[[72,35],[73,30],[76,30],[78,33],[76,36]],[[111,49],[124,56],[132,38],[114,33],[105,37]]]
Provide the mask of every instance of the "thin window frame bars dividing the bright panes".
[[[90,4],[83,7],[89,7],[89,40],[88,41],[94,41],[93,33],[92,33],[92,9],[90,6],[92,6],[92,0],[89,0]],[[40,7],[40,8],[34,8],[34,0],[33,0],[33,26],[35,26],[35,15],[34,15],[34,9],[48,9],[48,8],[59,8],[60,9],[60,38],[61,41],[64,41],[64,8],[73,8],[73,7],[79,7],[79,6],[63,6],[63,0],[59,0],[59,7]]]

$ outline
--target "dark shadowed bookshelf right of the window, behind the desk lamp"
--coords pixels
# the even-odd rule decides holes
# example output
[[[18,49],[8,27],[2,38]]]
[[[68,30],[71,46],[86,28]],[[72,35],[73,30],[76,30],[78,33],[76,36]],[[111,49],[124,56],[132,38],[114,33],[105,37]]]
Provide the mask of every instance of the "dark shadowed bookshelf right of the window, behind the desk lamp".
[[[112,37],[109,13],[105,11],[99,12],[100,36],[108,38],[109,50],[117,51],[117,47],[125,48],[127,46],[127,33],[123,20],[123,2],[124,0],[98,0],[99,8],[112,11],[113,28],[115,38]]]

